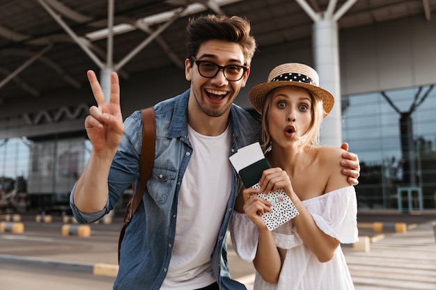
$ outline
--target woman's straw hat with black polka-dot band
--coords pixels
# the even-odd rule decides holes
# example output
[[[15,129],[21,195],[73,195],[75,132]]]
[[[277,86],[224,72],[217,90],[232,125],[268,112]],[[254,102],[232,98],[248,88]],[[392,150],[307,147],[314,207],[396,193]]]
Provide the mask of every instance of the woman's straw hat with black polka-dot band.
[[[265,105],[268,92],[281,86],[297,86],[308,90],[313,97],[322,99],[324,117],[332,111],[334,104],[333,95],[319,87],[319,76],[316,70],[302,63],[283,63],[274,67],[268,76],[266,83],[254,86],[249,92],[248,99],[251,106],[260,114]]]

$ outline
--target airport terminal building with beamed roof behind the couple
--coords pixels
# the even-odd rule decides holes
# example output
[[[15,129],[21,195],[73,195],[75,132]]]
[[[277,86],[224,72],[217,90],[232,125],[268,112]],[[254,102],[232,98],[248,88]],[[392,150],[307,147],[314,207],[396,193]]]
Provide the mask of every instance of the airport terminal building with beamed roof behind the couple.
[[[38,1],[29,2],[38,6]],[[50,1],[53,2],[56,1]],[[436,208],[435,0],[364,3],[359,0],[216,0],[209,1],[215,6],[201,4],[202,9],[192,12],[177,3],[193,5],[197,1],[162,1],[165,3],[162,6],[157,4],[161,1],[150,1],[148,8],[156,10],[153,15],[166,10],[177,15],[178,5],[186,10],[167,22],[162,20],[148,26],[148,33],[142,31],[135,35],[137,31],[132,29],[95,40],[90,37],[87,39],[90,51],[81,45],[91,31],[91,19],[76,24],[74,19],[79,22],[77,15],[84,17],[86,8],[68,6],[68,2],[74,1],[63,1],[63,8],[48,4],[39,8],[46,17],[44,35],[33,31],[32,38],[19,40],[11,38],[11,33],[4,33],[4,29],[16,35],[23,35],[24,31],[13,31],[6,22],[0,24],[0,81],[3,79],[0,84],[0,211],[11,207],[9,203],[14,200],[8,200],[8,196],[12,193],[16,193],[17,210],[38,209],[68,198],[92,146],[84,131],[88,107],[94,104],[86,82],[87,69],[100,72],[102,81],[108,64],[111,64],[109,70],[118,71],[124,118],[134,110],[185,91],[189,83],[182,67],[185,49],[181,31],[190,16],[204,13],[244,15],[253,26],[258,51],[251,63],[247,86],[236,99],[236,104],[248,111],[253,111],[247,100],[249,89],[264,82],[274,66],[300,62],[319,72],[320,86],[335,96],[334,110],[322,124],[322,142],[325,145],[347,142],[350,151],[358,154],[359,208],[405,212]],[[121,16],[139,19],[139,15],[132,13],[134,8],[137,8],[135,13],[143,9],[143,17],[153,16],[144,7],[148,4],[139,8],[141,1],[127,1],[132,7],[125,10],[114,2],[115,19],[119,20],[114,22],[115,26]],[[96,6],[99,3],[107,9],[111,0],[95,1]],[[4,9],[0,6],[1,10]],[[20,11],[24,15],[24,10]],[[62,15],[65,22],[56,23],[50,17],[51,12]],[[57,26],[52,32],[48,28],[50,22]],[[157,33],[164,25],[166,30],[162,28]],[[157,35],[150,38],[150,44],[138,51],[131,45],[117,52],[127,56],[135,51],[132,58],[124,58],[125,65],[117,66],[124,60],[117,55],[113,56],[116,61],[110,63],[93,59],[94,56],[110,58],[109,54],[104,55],[106,52],[97,54],[98,49],[93,45],[100,44],[100,49],[104,45],[102,51],[108,51],[106,43],[107,47],[110,45],[106,41],[114,37],[116,51],[127,40],[140,44],[138,39],[146,39],[153,31]],[[47,40],[43,36],[51,36],[53,40],[59,34],[65,34],[70,41],[59,40],[47,47],[39,45],[42,39]],[[117,40],[118,37],[126,40]],[[32,51],[33,56],[24,51]],[[58,58],[60,61],[56,61]],[[57,70],[56,66],[59,66]],[[45,74],[48,70],[54,76]],[[44,83],[49,86],[38,87]]]

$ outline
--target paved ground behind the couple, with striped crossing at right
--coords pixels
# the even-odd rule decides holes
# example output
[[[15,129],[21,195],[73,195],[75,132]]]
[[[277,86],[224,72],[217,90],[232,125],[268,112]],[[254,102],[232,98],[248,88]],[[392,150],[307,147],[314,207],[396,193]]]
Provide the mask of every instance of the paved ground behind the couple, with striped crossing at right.
[[[357,221],[359,243],[366,241],[366,248],[343,245],[356,290],[436,289],[436,229],[432,227],[436,211],[359,211]],[[1,223],[3,227],[8,223],[10,228],[1,230]],[[23,224],[23,232],[12,232],[15,223]],[[70,227],[68,234],[65,225]],[[122,225],[122,218],[114,217],[111,223],[90,225],[89,236],[80,236],[82,225],[71,220],[65,223],[61,216],[36,222],[34,214],[21,215],[19,221],[0,214],[0,289],[6,281],[1,265],[6,264],[113,280],[118,271],[118,234]],[[238,258],[231,243],[228,259],[231,276],[252,289],[254,267]]]

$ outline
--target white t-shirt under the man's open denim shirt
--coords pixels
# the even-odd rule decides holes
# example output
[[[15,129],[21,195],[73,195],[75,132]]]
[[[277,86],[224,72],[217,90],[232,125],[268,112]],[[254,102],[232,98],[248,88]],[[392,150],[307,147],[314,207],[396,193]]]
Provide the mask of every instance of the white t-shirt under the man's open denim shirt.
[[[231,194],[231,130],[204,136],[188,126],[194,152],[178,197],[176,240],[161,289],[192,290],[215,282],[212,252]]]

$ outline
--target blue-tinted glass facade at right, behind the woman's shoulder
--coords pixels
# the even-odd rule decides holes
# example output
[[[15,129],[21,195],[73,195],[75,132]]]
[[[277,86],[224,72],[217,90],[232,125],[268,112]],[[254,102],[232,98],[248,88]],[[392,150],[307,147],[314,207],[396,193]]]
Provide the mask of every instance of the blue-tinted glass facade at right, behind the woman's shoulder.
[[[360,208],[435,209],[435,112],[433,86],[342,97],[343,140],[361,164]]]

